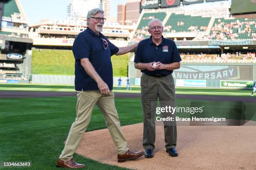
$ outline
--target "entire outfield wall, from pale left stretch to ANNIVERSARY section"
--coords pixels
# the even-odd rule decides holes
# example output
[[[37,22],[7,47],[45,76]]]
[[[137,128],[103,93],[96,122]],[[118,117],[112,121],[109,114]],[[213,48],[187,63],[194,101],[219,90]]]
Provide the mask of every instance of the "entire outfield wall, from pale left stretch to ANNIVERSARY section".
[[[173,72],[176,87],[211,88],[251,88],[256,81],[254,63],[182,63],[179,70]],[[129,62],[130,84],[140,86],[140,70]],[[113,77],[113,85],[118,85],[119,77]],[[121,86],[126,86],[127,77],[121,77]],[[74,76],[68,75],[32,75],[32,83],[74,84]]]

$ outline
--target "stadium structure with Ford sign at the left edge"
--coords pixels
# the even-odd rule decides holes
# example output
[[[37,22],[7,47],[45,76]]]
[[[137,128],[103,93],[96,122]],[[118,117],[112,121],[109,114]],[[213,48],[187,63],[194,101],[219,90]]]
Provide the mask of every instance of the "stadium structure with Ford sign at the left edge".
[[[0,30],[0,82],[28,82],[31,73],[32,39],[28,36],[28,19],[20,0],[4,4]]]

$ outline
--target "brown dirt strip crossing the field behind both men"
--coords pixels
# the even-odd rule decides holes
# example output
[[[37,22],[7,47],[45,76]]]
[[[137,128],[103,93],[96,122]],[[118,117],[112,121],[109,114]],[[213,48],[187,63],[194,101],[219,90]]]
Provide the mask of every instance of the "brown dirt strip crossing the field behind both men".
[[[12,97],[63,97],[75,96],[75,92],[0,91],[0,98]],[[140,93],[115,92],[115,97],[140,98]],[[256,102],[256,97],[224,95],[176,95],[180,99]]]

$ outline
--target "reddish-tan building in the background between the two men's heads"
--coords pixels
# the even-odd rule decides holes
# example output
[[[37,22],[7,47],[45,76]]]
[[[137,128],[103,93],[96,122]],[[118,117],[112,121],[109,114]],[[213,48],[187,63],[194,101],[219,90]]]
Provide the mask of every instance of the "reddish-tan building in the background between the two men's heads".
[[[136,24],[140,17],[141,0],[126,0],[126,4],[118,5],[117,22],[121,25]]]

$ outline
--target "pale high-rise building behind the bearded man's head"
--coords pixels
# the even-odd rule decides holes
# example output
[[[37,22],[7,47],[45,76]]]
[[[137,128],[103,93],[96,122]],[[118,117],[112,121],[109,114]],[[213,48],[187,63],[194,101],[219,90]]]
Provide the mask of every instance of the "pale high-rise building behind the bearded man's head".
[[[104,10],[105,17],[109,16],[110,0],[72,0],[67,6],[67,20],[85,20],[87,13],[96,7]]]

